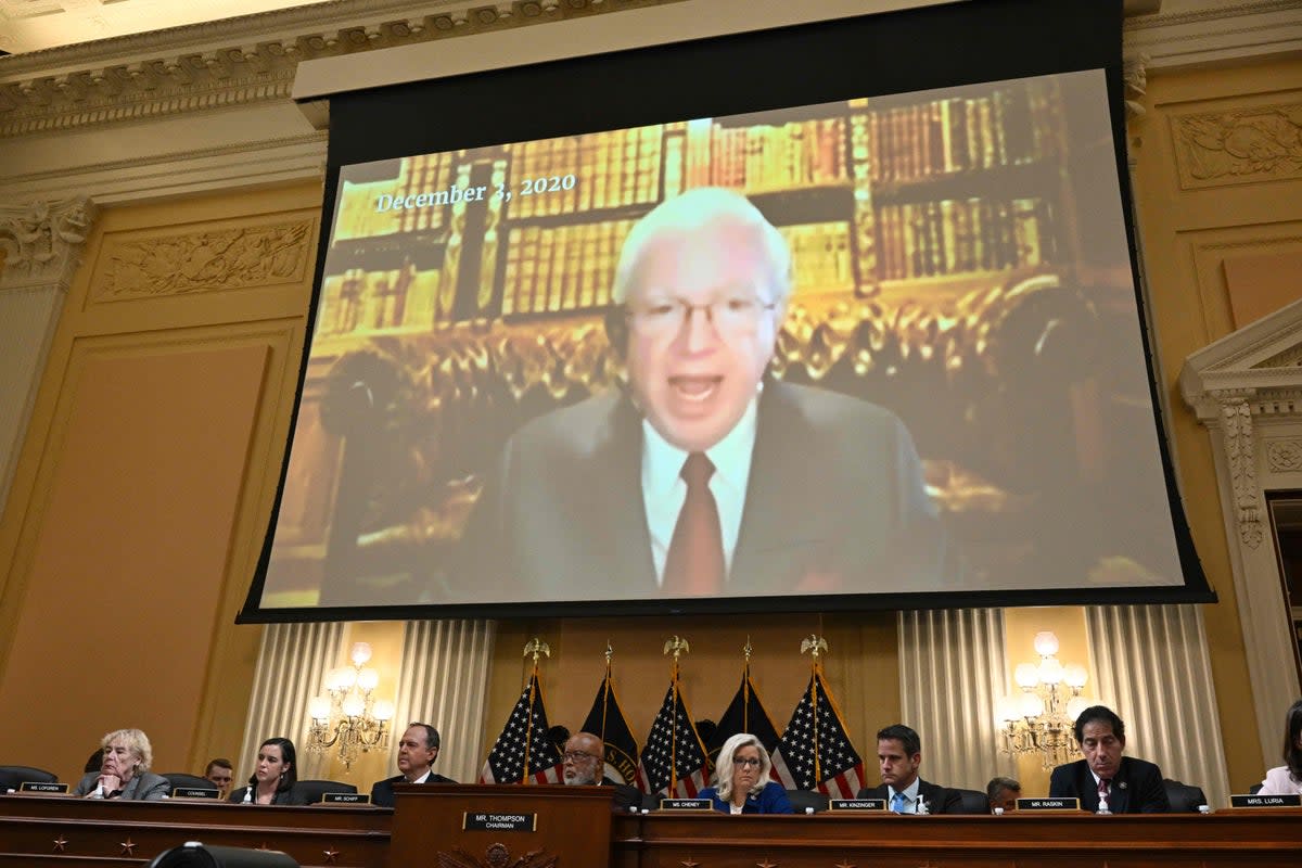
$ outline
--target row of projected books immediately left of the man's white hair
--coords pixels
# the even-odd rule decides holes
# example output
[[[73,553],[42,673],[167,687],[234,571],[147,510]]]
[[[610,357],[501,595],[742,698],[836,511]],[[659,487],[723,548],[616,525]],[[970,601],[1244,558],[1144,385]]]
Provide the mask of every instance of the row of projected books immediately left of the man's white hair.
[[[611,303],[611,284],[633,220],[512,226],[501,314],[542,314]]]

